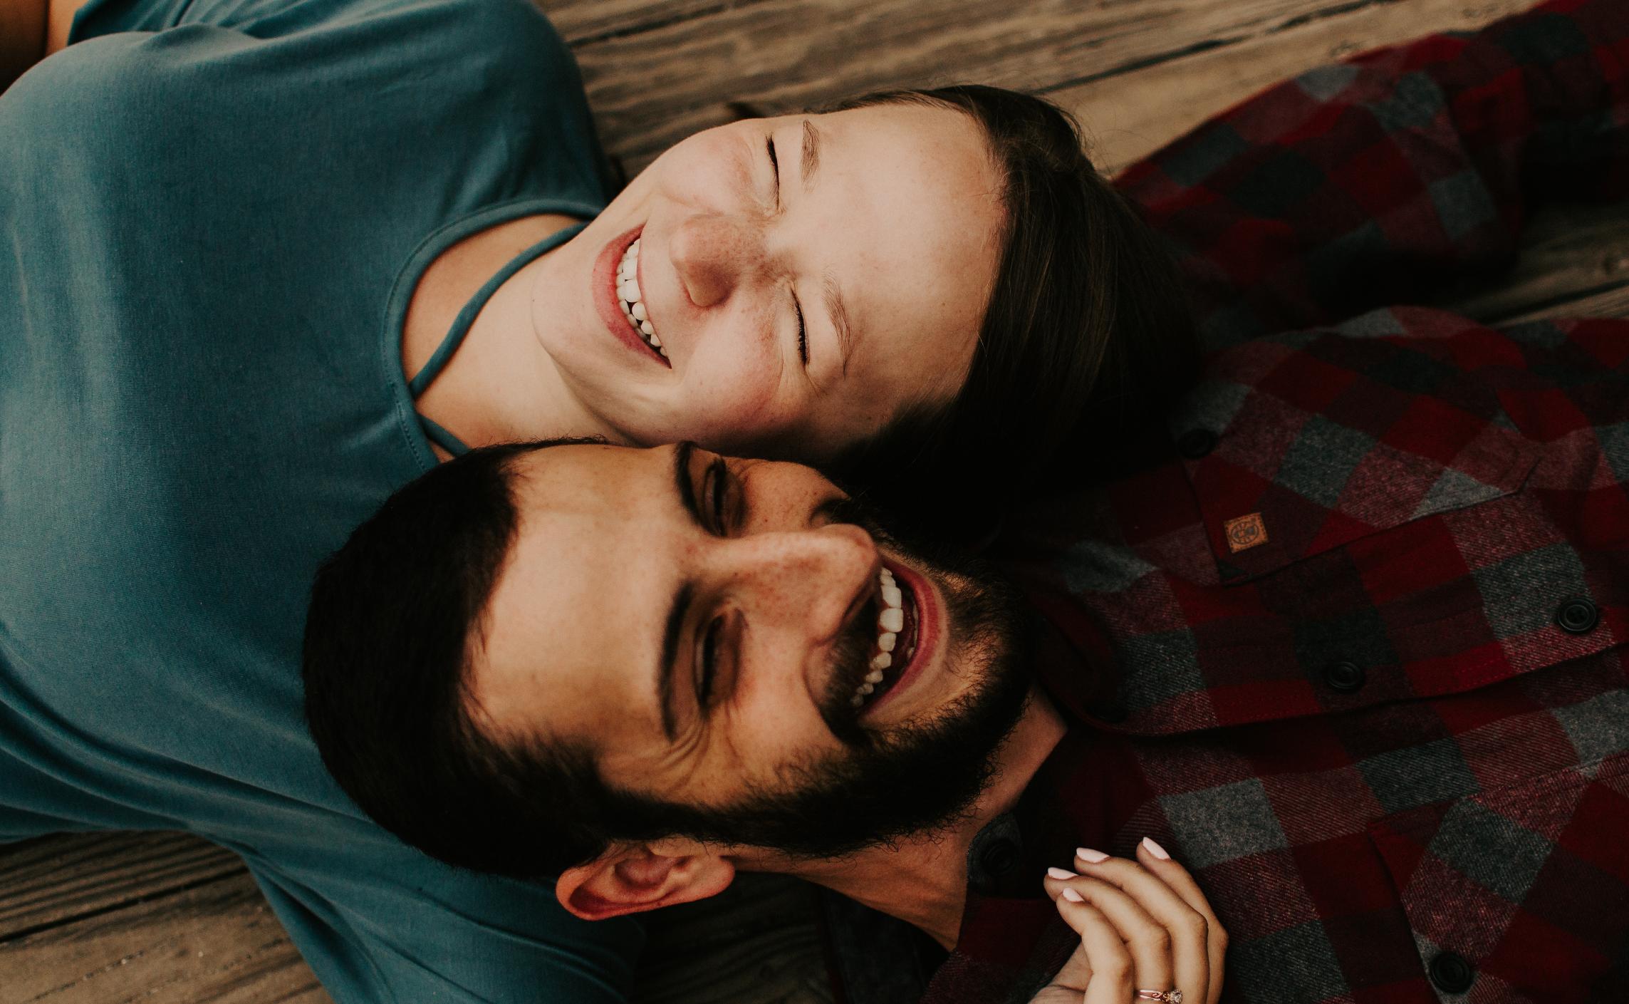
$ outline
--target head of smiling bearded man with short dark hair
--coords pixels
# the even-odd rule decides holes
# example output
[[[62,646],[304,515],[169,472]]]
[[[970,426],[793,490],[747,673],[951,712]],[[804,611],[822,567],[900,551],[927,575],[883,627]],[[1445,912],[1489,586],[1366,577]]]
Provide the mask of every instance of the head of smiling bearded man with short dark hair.
[[[992,789],[997,748],[1033,769],[1064,732],[1044,702],[1021,716],[1021,623],[1010,588],[810,468],[500,447],[406,489],[324,572],[306,699],[375,818],[468,867],[562,874],[601,919],[929,833],[922,870],[955,874],[1028,773]],[[829,880],[909,895],[917,869],[876,864]],[[951,944],[937,885],[909,913]]]

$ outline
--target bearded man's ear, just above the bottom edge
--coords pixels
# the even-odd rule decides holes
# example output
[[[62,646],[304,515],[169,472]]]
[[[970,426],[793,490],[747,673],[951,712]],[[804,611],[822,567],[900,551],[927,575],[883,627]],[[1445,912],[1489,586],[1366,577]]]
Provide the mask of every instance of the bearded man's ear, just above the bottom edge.
[[[554,883],[560,906],[585,921],[643,913],[717,896],[735,880],[735,862],[694,841],[613,848]]]

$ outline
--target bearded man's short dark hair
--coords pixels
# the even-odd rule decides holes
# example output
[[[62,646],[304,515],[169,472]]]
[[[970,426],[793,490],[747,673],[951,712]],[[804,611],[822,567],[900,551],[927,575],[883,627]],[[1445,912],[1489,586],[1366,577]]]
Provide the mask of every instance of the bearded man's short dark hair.
[[[507,748],[469,714],[469,649],[520,523],[515,465],[570,442],[583,440],[440,465],[358,526],[311,592],[305,709],[323,763],[381,826],[482,872],[557,874],[606,848],[586,751]]]

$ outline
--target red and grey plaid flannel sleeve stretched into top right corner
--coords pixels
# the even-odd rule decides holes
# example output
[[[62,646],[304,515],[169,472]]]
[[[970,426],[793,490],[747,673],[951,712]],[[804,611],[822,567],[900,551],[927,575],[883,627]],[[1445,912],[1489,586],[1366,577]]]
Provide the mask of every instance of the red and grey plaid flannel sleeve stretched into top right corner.
[[[1629,0],[1556,0],[1280,83],[1132,165],[1215,350],[1508,266],[1528,209],[1629,196]]]

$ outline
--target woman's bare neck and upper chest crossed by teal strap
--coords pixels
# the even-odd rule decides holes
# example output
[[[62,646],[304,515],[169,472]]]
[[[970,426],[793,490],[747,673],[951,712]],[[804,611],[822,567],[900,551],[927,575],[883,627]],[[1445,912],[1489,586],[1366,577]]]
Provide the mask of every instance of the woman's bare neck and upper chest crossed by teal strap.
[[[521,251],[565,227],[569,217],[536,215],[471,235],[443,251],[414,288],[402,324],[402,370],[411,380],[430,360],[458,313]],[[419,414],[469,447],[614,430],[565,386],[531,329],[533,272],[547,254],[510,275],[482,305],[458,350],[417,399]],[[443,460],[446,455],[437,448]]]

